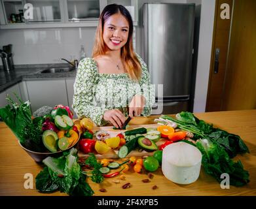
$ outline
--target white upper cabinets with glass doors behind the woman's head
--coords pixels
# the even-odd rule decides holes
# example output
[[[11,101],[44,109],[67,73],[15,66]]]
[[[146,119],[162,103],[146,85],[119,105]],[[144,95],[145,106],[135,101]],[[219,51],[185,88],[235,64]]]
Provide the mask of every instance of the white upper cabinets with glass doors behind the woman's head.
[[[137,0],[1,0],[0,29],[96,27],[112,3],[126,7],[137,25]]]

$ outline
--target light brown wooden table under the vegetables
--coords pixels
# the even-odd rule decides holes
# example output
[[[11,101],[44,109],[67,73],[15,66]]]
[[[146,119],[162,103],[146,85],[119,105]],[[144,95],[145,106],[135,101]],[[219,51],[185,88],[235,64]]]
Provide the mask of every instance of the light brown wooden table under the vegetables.
[[[216,127],[225,129],[230,133],[240,135],[250,153],[238,155],[234,160],[240,159],[244,168],[249,171],[249,184],[244,187],[230,186],[230,189],[221,189],[219,183],[201,169],[198,180],[189,185],[174,184],[167,180],[161,169],[154,172],[155,176],[150,183],[141,180],[147,178],[146,174],[128,172],[126,180],[120,184],[113,183],[113,178],[105,179],[101,184],[88,183],[94,189],[95,195],[256,195],[256,110],[241,110],[229,112],[207,112],[195,114]],[[131,125],[151,124],[157,116],[148,118],[138,117],[130,121]],[[27,153],[20,148],[16,137],[5,123],[0,123],[0,195],[65,195],[56,192],[42,194],[35,189],[35,176],[42,170]],[[25,174],[33,175],[33,189],[25,189]],[[118,178],[118,177],[117,177]],[[132,187],[122,189],[122,185],[130,182]],[[151,189],[157,185],[158,189]],[[101,193],[100,188],[107,189]]]

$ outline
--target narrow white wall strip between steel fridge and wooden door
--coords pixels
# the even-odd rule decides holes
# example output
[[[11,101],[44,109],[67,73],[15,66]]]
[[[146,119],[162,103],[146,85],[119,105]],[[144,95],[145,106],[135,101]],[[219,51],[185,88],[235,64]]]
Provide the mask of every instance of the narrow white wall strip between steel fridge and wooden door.
[[[199,0],[187,0],[187,2],[200,4]],[[206,111],[214,15],[215,0],[202,0],[193,112]]]

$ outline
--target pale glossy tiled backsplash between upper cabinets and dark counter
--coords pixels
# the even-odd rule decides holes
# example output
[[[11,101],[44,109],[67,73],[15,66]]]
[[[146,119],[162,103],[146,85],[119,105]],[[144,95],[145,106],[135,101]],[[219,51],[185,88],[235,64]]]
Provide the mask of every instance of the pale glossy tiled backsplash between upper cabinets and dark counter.
[[[81,44],[91,56],[95,33],[96,27],[1,30],[0,48],[12,44],[14,65],[63,63],[61,57],[80,58]]]

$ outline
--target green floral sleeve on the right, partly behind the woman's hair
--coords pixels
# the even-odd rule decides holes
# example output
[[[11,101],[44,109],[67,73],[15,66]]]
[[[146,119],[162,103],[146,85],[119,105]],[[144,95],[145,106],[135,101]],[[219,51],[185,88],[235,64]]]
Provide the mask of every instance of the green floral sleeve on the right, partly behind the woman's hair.
[[[145,61],[138,55],[137,58],[139,59],[139,62],[141,64],[141,78],[139,80],[139,86],[141,94],[145,97],[146,103],[143,112],[141,113],[143,116],[150,116],[152,111],[152,106],[155,103],[155,89],[153,88],[153,85],[151,84],[151,78],[149,71],[147,69],[147,65]]]

